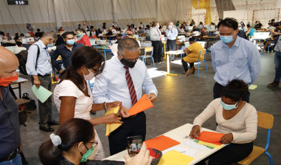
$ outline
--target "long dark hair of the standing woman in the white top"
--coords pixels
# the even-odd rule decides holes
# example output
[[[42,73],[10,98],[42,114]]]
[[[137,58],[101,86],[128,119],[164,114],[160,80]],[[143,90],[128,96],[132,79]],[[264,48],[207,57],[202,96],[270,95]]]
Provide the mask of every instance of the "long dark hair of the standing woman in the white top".
[[[99,66],[99,70],[95,73],[95,76],[97,76],[103,72],[104,61],[104,57],[95,48],[89,46],[79,47],[71,56],[71,66],[60,74],[60,83],[63,80],[71,80],[82,91],[84,80],[77,73],[77,69],[82,66],[88,69]]]

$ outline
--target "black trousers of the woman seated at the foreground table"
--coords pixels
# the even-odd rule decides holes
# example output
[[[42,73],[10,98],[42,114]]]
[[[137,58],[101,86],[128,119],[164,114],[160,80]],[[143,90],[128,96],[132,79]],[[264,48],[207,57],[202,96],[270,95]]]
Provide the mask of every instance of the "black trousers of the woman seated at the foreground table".
[[[253,142],[244,144],[231,143],[195,165],[206,165],[205,161],[207,159],[209,159],[208,165],[231,165],[245,159],[252,151]]]

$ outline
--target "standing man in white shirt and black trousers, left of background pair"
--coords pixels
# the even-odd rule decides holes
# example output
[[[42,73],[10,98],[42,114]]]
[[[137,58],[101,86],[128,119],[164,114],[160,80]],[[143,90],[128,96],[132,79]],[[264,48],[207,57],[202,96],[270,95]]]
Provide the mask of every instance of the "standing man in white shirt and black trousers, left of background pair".
[[[164,61],[162,61],[162,47],[163,47],[163,43],[161,41],[162,39],[162,34],[159,30],[159,23],[158,22],[153,22],[152,23],[152,28],[150,28],[150,40],[152,43],[152,46],[154,47],[154,62],[155,63],[164,63]]]

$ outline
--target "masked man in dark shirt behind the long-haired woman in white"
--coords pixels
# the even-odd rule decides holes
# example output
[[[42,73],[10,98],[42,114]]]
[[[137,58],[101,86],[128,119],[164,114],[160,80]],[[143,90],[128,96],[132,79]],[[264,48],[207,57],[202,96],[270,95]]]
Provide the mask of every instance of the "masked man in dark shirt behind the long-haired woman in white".
[[[67,68],[71,65],[71,55],[78,48],[82,47],[82,43],[75,43],[73,32],[65,32],[63,34],[63,40],[65,43],[59,45],[53,54],[51,54],[51,64],[56,67],[61,74],[64,70],[57,61],[58,56],[62,56],[63,67]]]

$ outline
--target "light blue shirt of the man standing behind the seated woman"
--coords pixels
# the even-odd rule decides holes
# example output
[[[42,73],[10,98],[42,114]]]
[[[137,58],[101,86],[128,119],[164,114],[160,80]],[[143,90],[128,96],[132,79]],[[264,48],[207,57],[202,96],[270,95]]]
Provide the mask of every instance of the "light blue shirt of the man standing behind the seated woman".
[[[239,36],[232,47],[219,41],[212,46],[212,67],[216,72],[214,79],[220,85],[234,79],[251,85],[260,74],[260,53],[254,43]]]

